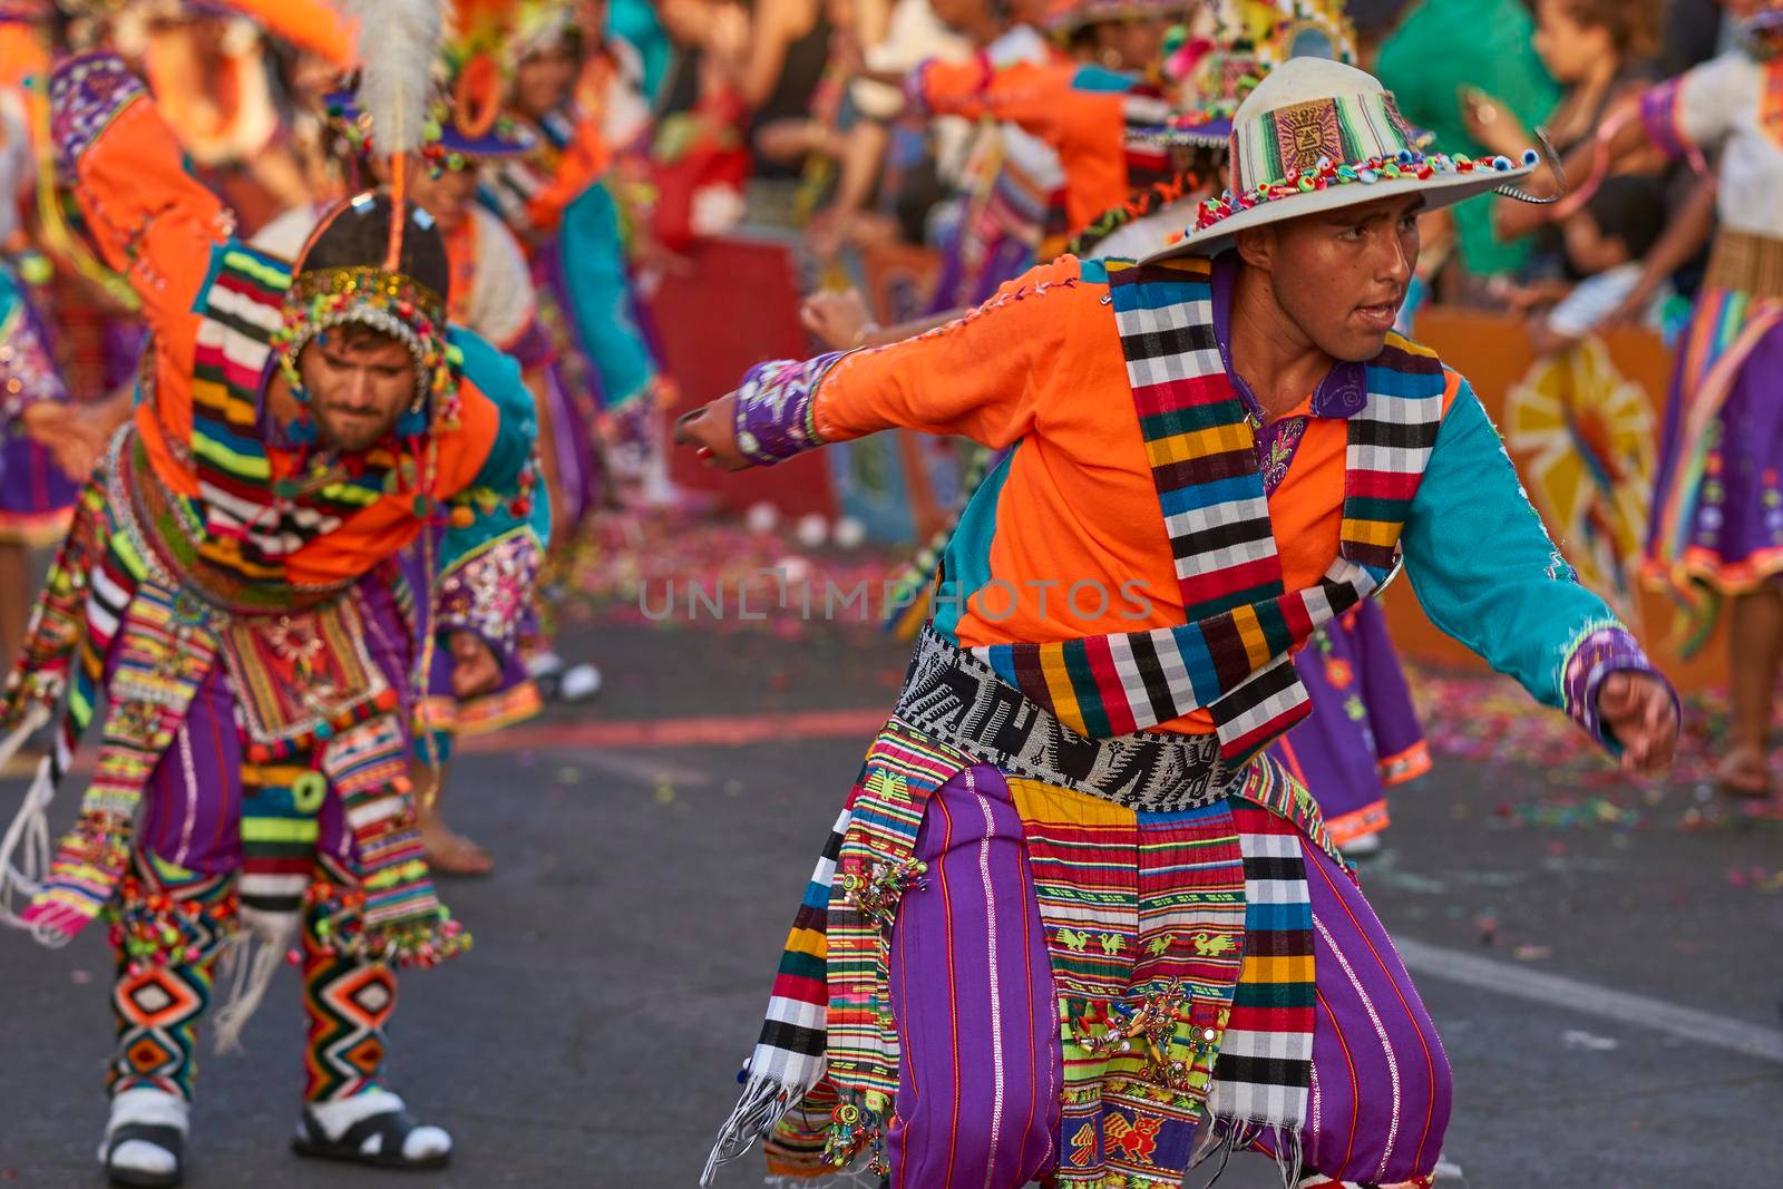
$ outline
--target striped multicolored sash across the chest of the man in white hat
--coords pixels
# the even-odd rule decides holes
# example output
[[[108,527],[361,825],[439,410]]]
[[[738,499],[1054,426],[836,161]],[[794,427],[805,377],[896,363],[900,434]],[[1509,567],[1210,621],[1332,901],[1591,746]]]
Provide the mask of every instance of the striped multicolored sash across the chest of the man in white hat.
[[[1398,335],[1368,364],[1368,403],[1348,419],[1339,556],[1316,586],[1289,592],[1252,424],[1214,333],[1211,264],[1107,269],[1187,622],[972,651],[1084,734],[1207,708],[1221,754],[1245,759],[1312,709],[1289,652],[1393,572],[1442,422],[1442,364]]]

